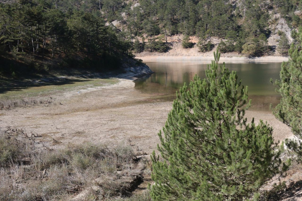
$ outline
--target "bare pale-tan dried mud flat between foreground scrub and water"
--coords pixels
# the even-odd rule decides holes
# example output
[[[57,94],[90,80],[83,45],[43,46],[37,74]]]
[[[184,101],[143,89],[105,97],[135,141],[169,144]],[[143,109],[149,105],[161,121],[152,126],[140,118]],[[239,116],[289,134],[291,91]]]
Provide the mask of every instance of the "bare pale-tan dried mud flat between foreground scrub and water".
[[[1,110],[0,125],[38,133],[42,138],[37,140],[53,147],[82,142],[128,143],[149,154],[159,143],[157,133],[172,102],[155,100],[154,94],[134,89],[133,77],[119,78],[115,85],[61,94],[61,104]],[[292,136],[271,112],[249,110],[246,117],[267,121],[274,128],[276,141]],[[53,139],[59,143],[52,144]]]

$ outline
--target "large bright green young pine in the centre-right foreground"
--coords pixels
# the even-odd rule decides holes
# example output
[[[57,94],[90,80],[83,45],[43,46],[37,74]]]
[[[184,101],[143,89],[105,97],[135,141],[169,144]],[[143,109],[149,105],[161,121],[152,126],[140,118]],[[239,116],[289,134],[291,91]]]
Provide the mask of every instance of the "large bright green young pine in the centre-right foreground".
[[[259,196],[261,185],[287,164],[262,121],[247,124],[251,105],[247,88],[239,89],[236,72],[223,64],[220,53],[206,70],[180,88],[159,132],[162,158],[153,152],[153,200],[243,200]],[[239,92],[239,93],[238,93]]]

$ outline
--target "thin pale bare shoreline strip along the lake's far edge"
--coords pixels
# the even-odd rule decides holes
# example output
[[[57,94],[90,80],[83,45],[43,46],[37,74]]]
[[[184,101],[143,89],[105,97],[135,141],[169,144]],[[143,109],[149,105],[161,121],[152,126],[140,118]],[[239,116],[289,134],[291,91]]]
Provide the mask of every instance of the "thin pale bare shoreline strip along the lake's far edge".
[[[213,60],[213,56],[136,56],[137,59],[145,60]],[[242,57],[220,57],[220,61],[259,61],[259,62],[283,62],[288,61],[284,56],[262,56],[248,58]]]

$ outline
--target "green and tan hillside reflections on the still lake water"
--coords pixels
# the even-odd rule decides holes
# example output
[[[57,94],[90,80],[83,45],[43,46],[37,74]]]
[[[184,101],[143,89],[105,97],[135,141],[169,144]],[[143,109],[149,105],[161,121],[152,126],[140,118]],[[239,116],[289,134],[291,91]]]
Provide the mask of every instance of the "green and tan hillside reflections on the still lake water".
[[[204,78],[208,63],[210,61],[147,62],[156,73],[135,81],[135,88],[151,94],[174,94],[184,82],[188,84],[195,74]],[[249,86],[250,95],[275,95],[269,79],[278,78],[280,63],[228,63],[226,67],[237,72],[238,78],[243,80],[242,84]]]

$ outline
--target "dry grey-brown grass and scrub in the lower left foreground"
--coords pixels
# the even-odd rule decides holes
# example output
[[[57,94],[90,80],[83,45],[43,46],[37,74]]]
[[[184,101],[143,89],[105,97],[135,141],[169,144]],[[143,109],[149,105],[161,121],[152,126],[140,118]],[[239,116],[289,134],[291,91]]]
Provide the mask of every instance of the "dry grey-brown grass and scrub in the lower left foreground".
[[[104,200],[129,195],[145,163],[129,146],[52,150],[22,130],[0,130],[0,200]]]

